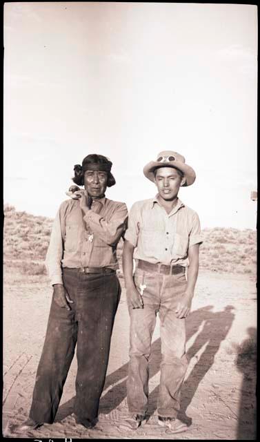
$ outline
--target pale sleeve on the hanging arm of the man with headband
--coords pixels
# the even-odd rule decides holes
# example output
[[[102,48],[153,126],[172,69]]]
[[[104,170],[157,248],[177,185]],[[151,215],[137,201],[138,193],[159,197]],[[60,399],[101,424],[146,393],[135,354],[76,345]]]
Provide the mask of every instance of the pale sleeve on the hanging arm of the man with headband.
[[[61,260],[63,258],[63,237],[61,232],[61,209],[52,225],[50,244],[46,253],[45,265],[52,285],[63,284]]]

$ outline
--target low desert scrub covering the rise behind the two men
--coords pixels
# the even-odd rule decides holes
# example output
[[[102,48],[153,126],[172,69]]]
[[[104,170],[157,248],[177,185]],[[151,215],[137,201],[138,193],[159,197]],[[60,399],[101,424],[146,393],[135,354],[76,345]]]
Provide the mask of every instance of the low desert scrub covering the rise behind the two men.
[[[16,212],[14,207],[6,208],[3,234],[3,258],[24,260],[26,271],[40,271],[31,262],[43,260],[50,242],[53,220],[34,216],[26,212]],[[252,230],[203,229],[203,244],[200,246],[200,266],[214,271],[254,272],[256,267],[257,233]],[[117,256],[121,265],[123,240],[117,245]],[[42,264],[43,265],[43,264]],[[36,274],[36,273],[35,273]],[[40,274],[40,273],[39,273]]]

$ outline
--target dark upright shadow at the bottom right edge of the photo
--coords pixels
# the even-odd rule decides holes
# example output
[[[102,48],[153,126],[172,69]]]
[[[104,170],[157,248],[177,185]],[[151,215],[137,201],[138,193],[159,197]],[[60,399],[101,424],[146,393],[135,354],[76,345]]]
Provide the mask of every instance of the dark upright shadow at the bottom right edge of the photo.
[[[237,440],[257,439],[256,394],[257,394],[257,329],[247,329],[248,338],[239,345],[237,369],[243,374],[240,392]]]

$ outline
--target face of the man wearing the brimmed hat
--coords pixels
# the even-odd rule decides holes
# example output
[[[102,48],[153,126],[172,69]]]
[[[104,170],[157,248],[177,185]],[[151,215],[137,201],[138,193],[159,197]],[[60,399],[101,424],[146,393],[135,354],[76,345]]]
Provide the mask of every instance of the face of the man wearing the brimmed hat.
[[[154,183],[157,186],[159,196],[163,200],[170,201],[177,197],[181,184],[185,178],[173,167],[160,167],[155,171]]]

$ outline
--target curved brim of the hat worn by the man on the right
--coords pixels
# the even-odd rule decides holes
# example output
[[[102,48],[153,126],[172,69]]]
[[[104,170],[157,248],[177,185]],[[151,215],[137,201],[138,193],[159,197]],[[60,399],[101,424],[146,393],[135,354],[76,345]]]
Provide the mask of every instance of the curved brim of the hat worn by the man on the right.
[[[174,161],[174,164],[173,162],[161,163],[157,161],[150,161],[150,163],[144,166],[143,174],[146,176],[146,178],[148,178],[148,180],[154,182],[154,171],[155,169],[159,169],[161,167],[172,167],[173,169],[179,169],[179,171],[181,171],[186,177],[186,182],[183,184],[183,187],[190,186],[196,180],[196,173],[194,169],[188,166],[188,164],[176,160]]]

